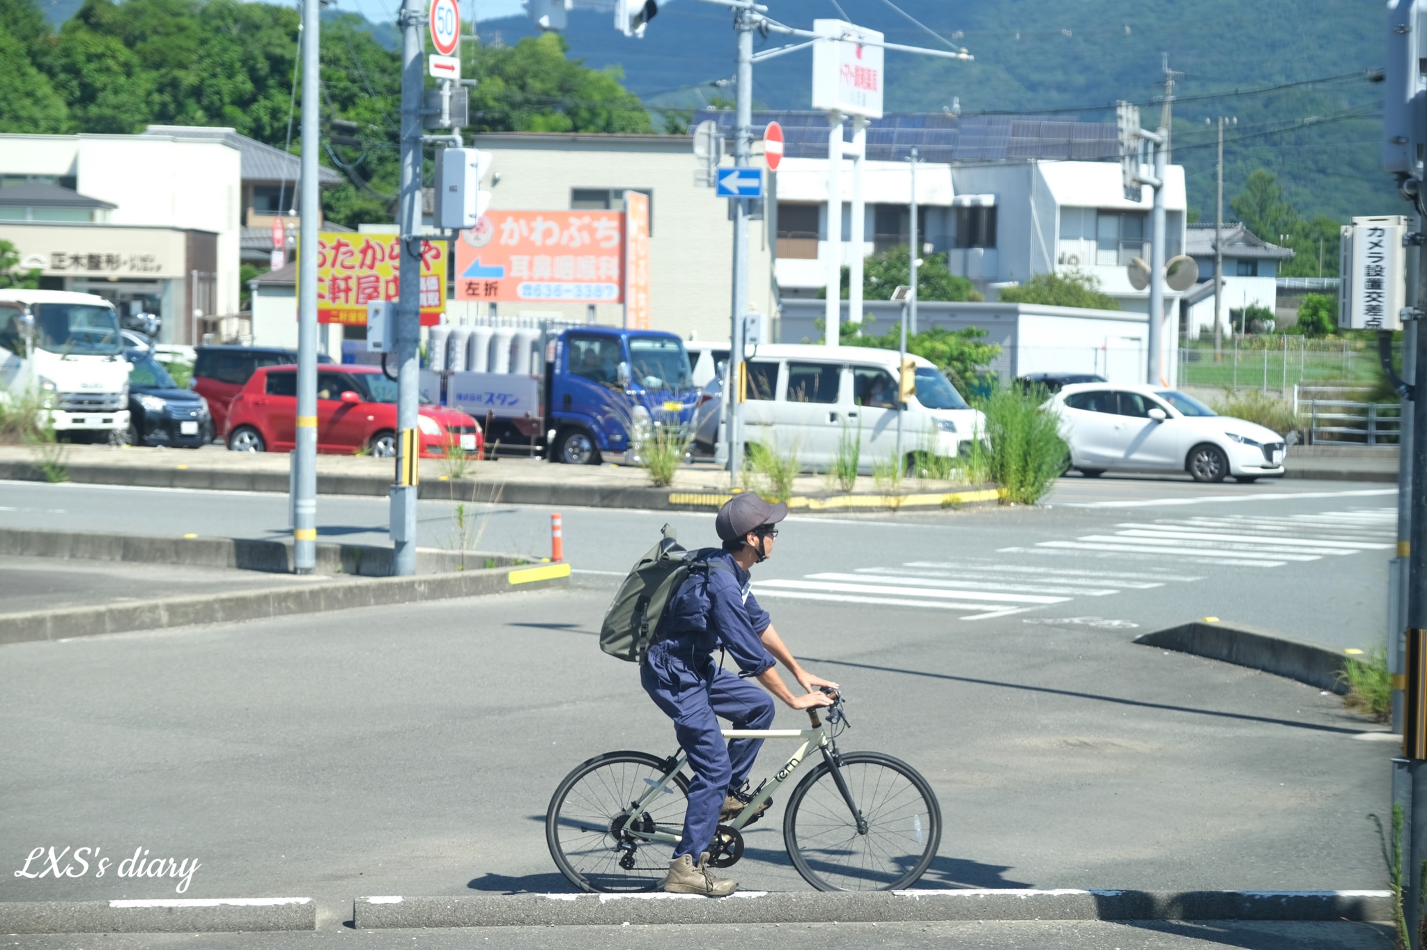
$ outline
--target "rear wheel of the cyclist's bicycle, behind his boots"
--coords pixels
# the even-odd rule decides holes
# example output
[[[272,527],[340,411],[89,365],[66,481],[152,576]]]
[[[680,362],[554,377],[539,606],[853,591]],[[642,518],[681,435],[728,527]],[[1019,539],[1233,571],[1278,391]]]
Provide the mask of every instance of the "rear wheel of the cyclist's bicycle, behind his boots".
[[[634,802],[659,783],[668,763],[648,752],[606,752],[565,776],[545,813],[545,842],[569,883],[588,892],[655,890],[669,873],[674,844],[646,842],[625,829]],[[689,780],[684,773],[649,803],[639,830],[682,827]]]

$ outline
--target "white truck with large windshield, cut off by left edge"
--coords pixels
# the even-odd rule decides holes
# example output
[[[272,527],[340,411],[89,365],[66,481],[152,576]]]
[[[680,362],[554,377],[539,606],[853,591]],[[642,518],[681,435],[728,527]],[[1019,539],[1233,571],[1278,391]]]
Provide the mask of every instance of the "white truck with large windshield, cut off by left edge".
[[[128,429],[128,369],[103,297],[0,290],[0,401],[33,395],[56,434],[117,438]]]

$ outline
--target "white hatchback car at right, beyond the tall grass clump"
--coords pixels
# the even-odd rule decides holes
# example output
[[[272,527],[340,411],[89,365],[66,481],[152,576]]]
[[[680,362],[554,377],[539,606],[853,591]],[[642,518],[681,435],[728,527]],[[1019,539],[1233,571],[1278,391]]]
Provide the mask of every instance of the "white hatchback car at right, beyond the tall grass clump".
[[[1283,475],[1281,435],[1174,389],[1082,382],[1047,405],[1060,415],[1070,466],[1090,478],[1107,469],[1189,472],[1196,482]]]

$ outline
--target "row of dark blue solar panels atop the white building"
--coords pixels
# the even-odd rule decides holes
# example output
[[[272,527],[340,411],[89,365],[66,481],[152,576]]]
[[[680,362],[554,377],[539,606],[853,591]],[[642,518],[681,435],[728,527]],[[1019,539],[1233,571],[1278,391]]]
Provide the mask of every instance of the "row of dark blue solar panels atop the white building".
[[[704,120],[733,136],[733,113],[698,111],[691,126]],[[755,111],[753,134],[768,123],[783,128],[783,154],[791,158],[828,157],[828,117],[813,111]],[[852,140],[852,123],[843,124]],[[1047,116],[948,116],[902,113],[868,124],[868,158],[900,161],[912,147],[925,161],[1005,161],[1007,158],[1059,158],[1076,161],[1119,160],[1120,140],[1112,123],[1079,123]]]

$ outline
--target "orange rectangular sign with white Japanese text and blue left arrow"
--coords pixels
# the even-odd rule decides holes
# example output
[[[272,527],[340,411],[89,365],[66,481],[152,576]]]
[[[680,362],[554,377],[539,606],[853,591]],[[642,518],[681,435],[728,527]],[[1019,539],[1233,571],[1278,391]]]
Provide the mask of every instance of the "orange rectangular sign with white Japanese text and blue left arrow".
[[[624,255],[622,211],[491,211],[455,242],[455,300],[619,304]]]

